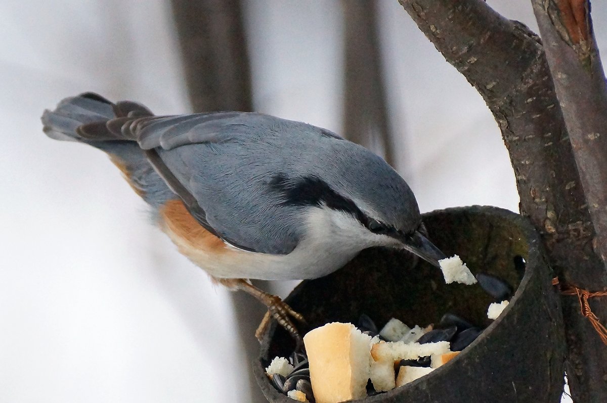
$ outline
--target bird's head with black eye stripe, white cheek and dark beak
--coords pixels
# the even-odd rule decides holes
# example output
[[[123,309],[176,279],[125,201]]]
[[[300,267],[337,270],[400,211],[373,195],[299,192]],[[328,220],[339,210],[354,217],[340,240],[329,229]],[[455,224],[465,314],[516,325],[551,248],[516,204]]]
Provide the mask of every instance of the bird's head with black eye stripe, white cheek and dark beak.
[[[274,178],[285,203],[303,207],[320,236],[329,233],[359,250],[405,249],[438,267],[446,256],[427,238],[409,185],[379,156],[348,141],[339,143],[342,150],[331,150],[330,163]]]

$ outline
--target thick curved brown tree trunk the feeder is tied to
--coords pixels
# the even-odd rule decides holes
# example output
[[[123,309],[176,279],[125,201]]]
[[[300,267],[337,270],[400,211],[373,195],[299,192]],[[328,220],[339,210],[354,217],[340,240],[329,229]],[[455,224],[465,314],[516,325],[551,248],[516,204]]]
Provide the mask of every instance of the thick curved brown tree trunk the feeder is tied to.
[[[605,288],[606,271],[592,247],[595,230],[540,39],[483,0],[399,2],[495,116],[514,168],[521,214],[540,233],[555,273],[578,287]],[[605,402],[607,348],[580,315],[577,298],[561,301],[572,396]],[[607,304],[591,304],[605,323]]]

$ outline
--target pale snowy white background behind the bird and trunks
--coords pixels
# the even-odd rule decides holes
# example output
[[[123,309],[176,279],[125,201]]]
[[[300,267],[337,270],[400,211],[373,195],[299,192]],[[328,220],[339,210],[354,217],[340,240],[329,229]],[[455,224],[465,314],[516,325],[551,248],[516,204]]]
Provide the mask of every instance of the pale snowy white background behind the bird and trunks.
[[[380,4],[397,168],[421,210],[516,211],[483,100],[396,0]],[[527,0],[490,4],[537,30]],[[341,133],[340,2],[251,0],[245,18],[256,109]],[[4,1],[0,35],[0,402],[261,401],[228,291],[149,224],[103,153],[41,132],[44,108],[84,91],[188,112],[168,3]]]

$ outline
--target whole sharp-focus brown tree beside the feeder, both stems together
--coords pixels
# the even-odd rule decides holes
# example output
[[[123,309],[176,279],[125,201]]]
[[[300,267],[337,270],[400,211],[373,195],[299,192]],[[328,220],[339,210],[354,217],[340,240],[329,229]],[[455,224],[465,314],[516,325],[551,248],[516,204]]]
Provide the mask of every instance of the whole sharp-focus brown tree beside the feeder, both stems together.
[[[533,0],[547,47],[483,0],[399,2],[487,102],[510,153],[521,214],[540,233],[555,273],[577,287],[605,290],[607,97],[589,2]],[[590,304],[605,324],[607,301]],[[561,306],[572,397],[607,402],[607,347],[577,298],[563,296]]]

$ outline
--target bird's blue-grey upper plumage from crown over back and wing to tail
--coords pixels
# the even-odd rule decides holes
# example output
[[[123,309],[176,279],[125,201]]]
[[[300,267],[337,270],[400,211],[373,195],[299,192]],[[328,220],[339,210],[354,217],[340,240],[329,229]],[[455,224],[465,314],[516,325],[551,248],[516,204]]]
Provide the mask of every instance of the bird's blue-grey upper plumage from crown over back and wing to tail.
[[[132,104],[140,108],[129,116],[84,104],[94,117],[45,112],[47,134],[97,147],[91,137],[136,145],[131,139],[154,150],[204,210],[205,224],[248,250],[290,253],[305,235],[307,209],[321,205],[402,231],[421,222],[409,186],[384,160],[323,128],[260,113],[150,116]],[[78,129],[78,122],[86,125]]]

